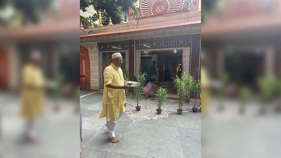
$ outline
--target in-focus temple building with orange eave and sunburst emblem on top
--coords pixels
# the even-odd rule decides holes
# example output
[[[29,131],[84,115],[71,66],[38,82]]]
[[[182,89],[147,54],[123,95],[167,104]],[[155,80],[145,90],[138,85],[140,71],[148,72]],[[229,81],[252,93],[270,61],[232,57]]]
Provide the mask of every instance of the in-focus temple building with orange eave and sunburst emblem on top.
[[[156,82],[165,86],[169,77],[186,72],[200,76],[201,4],[192,0],[140,0],[141,17],[129,8],[128,22],[80,30],[80,87],[103,89],[103,71],[111,54],[123,56],[122,71],[130,80],[147,72],[153,61]],[[185,4],[186,5],[186,4]],[[84,31],[89,33],[85,33]]]

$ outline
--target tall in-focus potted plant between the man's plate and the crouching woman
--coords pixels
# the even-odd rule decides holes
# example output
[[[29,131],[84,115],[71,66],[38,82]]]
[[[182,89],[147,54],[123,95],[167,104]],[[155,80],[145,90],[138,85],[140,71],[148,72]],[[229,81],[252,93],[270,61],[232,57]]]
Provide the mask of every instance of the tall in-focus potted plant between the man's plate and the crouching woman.
[[[138,76],[138,81],[141,83],[141,85],[136,87],[134,97],[133,97],[137,101],[137,106],[136,106],[137,111],[141,110],[141,106],[139,106],[139,101],[142,98],[142,92],[143,92],[143,87],[144,87],[146,78],[147,78],[146,72],[141,73],[141,75]]]

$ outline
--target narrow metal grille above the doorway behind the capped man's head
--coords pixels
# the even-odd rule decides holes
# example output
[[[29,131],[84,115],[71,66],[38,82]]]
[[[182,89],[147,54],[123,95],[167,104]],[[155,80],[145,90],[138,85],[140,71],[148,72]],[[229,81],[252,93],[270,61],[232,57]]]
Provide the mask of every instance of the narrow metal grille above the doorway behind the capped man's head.
[[[110,41],[98,43],[100,51],[121,51],[128,50],[128,40],[126,41]]]

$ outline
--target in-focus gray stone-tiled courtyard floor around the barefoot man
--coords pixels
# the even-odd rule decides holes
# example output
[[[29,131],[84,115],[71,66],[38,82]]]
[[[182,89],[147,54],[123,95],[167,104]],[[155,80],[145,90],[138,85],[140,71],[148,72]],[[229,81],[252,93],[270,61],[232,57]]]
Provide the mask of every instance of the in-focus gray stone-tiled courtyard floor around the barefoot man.
[[[80,96],[93,91],[80,91]],[[119,143],[107,140],[106,118],[99,118],[102,93],[80,98],[82,109],[81,158],[200,158],[201,113],[169,113],[157,120],[133,122],[124,114],[117,121]],[[156,112],[156,111],[155,111]]]

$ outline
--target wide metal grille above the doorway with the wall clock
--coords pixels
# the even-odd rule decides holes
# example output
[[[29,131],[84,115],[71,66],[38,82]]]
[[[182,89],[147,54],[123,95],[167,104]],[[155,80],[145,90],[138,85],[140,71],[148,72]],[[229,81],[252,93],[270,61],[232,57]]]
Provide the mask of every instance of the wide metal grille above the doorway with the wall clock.
[[[191,37],[190,35],[181,35],[141,40],[136,39],[136,50],[190,47]]]

